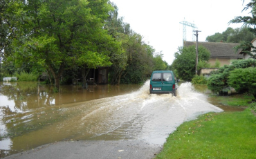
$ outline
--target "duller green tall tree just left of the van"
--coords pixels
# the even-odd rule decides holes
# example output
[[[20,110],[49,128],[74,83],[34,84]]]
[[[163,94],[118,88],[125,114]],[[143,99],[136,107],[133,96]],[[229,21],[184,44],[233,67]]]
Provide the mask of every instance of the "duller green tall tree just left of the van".
[[[118,8],[110,12],[105,28],[109,34],[122,44],[122,54],[111,54],[111,84],[138,84],[145,82],[154,69],[154,48],[145,44],[143,37],[131,30],[122,17],[118,17]],[[162,60],[163,62],[163,60]]]

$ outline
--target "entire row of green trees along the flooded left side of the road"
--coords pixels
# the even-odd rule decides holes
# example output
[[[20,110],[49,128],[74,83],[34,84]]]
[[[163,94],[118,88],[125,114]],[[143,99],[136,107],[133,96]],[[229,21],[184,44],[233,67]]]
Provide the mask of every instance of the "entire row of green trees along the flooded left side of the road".
[[[1,78],[47,73],[58,89],[61,77],[64,84],[77,78],[85,85],[90,69],[99,67],[109,67],[111,84],[138,84],[155,69],[167,68],[163,55],[118,17],[118,7],[109,0],[1,5]]]

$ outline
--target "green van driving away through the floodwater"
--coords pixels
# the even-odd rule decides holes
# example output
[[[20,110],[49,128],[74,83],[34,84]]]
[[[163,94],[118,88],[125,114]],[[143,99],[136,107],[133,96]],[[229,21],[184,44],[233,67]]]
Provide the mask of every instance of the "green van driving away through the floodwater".
[[[149,92],[150,94],[172,93],[176,96],[176,89],[178,88],[176,82],[176,77],[170,70],[153,71],[150,77]]]

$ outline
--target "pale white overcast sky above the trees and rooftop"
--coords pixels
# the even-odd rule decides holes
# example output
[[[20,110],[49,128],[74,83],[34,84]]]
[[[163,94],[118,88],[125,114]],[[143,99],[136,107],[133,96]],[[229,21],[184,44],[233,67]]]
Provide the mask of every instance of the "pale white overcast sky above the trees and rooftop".
[[[183,24],[188,21],[197,26],[199,41],[209,35],[222,33],[228,27],[240,28],[241,24],[228,22],[234,17],[249,15],[241,12],[250,2],[245,0],[110,0],[118,6],[118,14],[130,24],[131,29],[143,35],[147,44],[156,52],[162,51],[163,60],[172,64],[174,53],[183,45]],[[192,41],[192,28],[186,27],[186,40]],[[194,37],[194,39],[196,39]]]

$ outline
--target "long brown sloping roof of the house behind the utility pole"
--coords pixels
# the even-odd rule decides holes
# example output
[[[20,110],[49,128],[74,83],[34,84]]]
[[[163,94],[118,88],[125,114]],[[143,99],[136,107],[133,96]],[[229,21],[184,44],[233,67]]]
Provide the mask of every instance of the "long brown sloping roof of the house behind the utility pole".
[[[207,42],[207,41],[199,41],[199,46],[203,46],[210,50],[210,57],[234,57],[234,58],[243,58],[243,55],[239,54],[241,49],[237,52],[234,47],[238,46],[238,43],[223,43],[223,42]],[[196,41],[184,41],[183,46],[192,46],[196,45]]]

